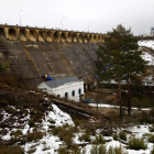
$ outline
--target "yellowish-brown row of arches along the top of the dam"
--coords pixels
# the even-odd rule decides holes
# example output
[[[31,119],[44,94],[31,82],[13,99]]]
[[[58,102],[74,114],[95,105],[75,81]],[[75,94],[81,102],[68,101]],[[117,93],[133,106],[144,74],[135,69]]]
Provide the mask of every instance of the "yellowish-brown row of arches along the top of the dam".
[[[103,42],[105,34],[1,24],[0,37],[34,42],[98,43]]]

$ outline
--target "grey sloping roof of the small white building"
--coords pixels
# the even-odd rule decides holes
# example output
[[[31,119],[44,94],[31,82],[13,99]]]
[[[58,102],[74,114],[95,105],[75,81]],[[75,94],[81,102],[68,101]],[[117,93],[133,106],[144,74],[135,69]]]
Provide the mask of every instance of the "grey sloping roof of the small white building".
[[[67,78],[61,78],[56,80],[48,80],[48,81],[45,81],[44,84],[46,84],[51,88],[56,88],[64,84],[74,82],[74,81],[80,81],[80,80],[76,77],[67,77]]]

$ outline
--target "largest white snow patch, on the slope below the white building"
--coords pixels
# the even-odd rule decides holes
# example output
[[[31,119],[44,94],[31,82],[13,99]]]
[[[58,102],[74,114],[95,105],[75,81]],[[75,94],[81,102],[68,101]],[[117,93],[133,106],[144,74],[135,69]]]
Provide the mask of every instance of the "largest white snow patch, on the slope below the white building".
[[[47,133],[51,125],[50,121],[55,121],[53,125],[62,127],[65,124],[74,127],[74,122],[69,114],[63,112],[56,105],[52,105],[53,111],[45,112],[45,118],[42,122],[42,131],[46,132],[46,135],[37,143],[26,143],[23,147],[26,152],[35,148],[34,154],[56,154],[56,150],[63,144],[58,136],[54,136]],[[45,150],[46,148],[46,150]]]

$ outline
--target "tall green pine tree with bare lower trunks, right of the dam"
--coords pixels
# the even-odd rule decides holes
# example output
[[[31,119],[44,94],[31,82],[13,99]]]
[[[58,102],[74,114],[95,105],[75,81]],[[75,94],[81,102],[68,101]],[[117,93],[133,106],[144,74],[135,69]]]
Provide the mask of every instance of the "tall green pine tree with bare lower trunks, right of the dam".
[[[138,40],[131,33],[131,29],[125,30],[121,24],[108,32],[105,37],[105,46],[99,46],[96,51],[98,61],[97,74],[102,81],[111,80],[118,82],[118,99],[120,105],[120,118],[122,119],[122,100],[121,87],[122,82],[127,84],[128,89],[128,112],[131,114],[131,84],[132,76],[141,75],[145,72],[146,62],[142,59],[142,52],[139,51]],[[108,72],[102,73],[107,66],[110,66]]]

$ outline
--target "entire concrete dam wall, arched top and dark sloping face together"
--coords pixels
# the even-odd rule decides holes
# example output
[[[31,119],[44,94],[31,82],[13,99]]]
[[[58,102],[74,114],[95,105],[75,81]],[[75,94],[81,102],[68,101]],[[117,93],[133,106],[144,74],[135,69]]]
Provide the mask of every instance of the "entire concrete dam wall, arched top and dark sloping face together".
[[[48,35],[50,34],[50,35]],[[96,50],[103,35],[84,32],[0,26],[0,59],[11,63],[11,70],[29,79],[48,74],[53,78],[95,78]]]

